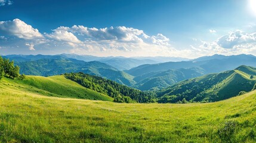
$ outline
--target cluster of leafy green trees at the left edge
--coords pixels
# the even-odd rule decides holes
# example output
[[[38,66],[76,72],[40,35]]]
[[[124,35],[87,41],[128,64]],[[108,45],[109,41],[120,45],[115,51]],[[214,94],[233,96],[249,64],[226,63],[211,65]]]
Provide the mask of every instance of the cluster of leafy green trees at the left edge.
[[[24,79],[24,74],[20,75],[20,67],[14,66],[14,61],[10,61],[9,59],[2,58],[0,56],[0,79],[3,76],[10,77],[12,79]]]

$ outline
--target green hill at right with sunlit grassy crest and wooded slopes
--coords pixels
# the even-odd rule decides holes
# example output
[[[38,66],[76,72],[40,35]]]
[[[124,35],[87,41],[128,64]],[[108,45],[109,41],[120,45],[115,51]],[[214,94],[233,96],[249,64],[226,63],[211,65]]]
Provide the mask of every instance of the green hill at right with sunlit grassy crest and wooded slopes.
[[[183,98],[207,102],[225,100],[241,91],[252,91],[256,83],[254,75],[254,67],[240,66],[235,70],[184,80],[159,92],[159,102],[177,102]]]

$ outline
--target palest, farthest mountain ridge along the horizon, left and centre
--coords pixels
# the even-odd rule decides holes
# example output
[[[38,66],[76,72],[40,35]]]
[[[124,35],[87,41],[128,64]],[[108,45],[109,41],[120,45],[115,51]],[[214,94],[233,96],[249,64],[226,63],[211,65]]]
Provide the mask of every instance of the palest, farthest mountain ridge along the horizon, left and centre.
[[[43,58],[73,58],[81,61],[100,61],[101,63],[110,64],[118,70],[129,70],[133,67],[137,67],[143,64],[156,64],[166,61],[183,61],[189,60],[187,58],[180,57],[96,57],[93,55],[77,55],[77,54],[59,54],[59,55],[5,55],[3,57],[10,58],[15,61],[33,61]]]

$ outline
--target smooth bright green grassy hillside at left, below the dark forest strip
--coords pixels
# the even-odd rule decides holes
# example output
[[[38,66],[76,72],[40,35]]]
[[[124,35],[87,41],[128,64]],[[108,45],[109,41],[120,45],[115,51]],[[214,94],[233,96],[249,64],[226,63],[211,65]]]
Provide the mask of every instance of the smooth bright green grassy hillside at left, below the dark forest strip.
[[[113,98],[84,88],[64,76],[26,76],[23,80],[13,80],[4,77],[0,80],[0,88],[13,88],[27,93],[36,93],[49,97],[78,98],[88,100],[113,101]]]

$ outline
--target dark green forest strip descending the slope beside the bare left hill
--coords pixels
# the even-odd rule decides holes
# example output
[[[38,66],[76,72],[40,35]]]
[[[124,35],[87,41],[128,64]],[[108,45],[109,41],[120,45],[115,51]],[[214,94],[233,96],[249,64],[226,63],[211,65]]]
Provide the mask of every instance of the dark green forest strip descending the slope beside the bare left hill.
[[[85,88],[92,89],[114,98],[115,102],[155,102],[154,94],[129,88],[109,79],[84,73],[66,73],[67,79],[73,80]]]

